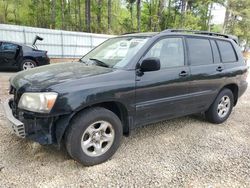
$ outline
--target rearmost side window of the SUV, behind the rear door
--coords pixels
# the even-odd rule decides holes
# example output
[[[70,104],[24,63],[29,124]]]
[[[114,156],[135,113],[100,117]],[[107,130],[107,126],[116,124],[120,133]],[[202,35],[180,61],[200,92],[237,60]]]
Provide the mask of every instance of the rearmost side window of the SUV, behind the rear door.
[[[220,50],[222,62],[235,62],[237,61],[235,51],[230,42],[217,40],[217,44]]]

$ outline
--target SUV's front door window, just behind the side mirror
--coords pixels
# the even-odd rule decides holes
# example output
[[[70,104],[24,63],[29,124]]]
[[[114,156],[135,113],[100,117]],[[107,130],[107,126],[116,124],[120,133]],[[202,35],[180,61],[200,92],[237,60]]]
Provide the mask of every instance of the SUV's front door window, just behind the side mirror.
[[[184,66],[182,38],[165,38],[158,41],[145,57],[159,58],[161,68]]]

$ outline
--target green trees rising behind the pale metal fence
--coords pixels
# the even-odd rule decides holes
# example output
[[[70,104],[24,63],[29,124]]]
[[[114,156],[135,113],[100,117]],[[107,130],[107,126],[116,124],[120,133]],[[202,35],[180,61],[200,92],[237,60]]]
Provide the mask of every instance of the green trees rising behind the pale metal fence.
[[[90,10],[86,1],[0,0],[0,23],[74,31],[87,31],[89,25],[94,33],[121,34],[136,32],[140,22],[144,32],[167,28],[224,30],[250,41],[249,0],[141,0],[140,8],[138,0],[112,0],[109,7],[109,0],[91,0]],[[210,23],[213,3],[226,6],[230,12],[224,27]],[[90,23],[86,15],[90,15]]]

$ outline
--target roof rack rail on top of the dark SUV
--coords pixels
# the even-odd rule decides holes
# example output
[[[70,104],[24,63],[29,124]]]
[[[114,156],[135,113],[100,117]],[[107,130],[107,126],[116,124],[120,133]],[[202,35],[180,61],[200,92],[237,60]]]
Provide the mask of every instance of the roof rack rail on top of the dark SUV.
[[[209,31],[197,31],[197,30],[187,30],[187,29],[166,29],[162,31],[164,33],[171,33],[171,32],[187,32],[187,33],[193,33],[193,34],[199,34],[199,35],[209,35],[209,36],[217,36],[217,37],[224,37],[228,39],[234,40],[237,44],[239,43],[238,37],[234,35],[225,35],[221,33],[215,33],[215,32],[209,32]]]

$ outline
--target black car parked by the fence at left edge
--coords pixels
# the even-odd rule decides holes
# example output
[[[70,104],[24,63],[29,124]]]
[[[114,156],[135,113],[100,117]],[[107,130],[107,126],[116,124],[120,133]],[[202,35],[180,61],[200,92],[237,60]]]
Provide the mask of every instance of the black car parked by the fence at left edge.
[[[48,65],[50,59],[47,56],[47,51],[37,49],[35,45],[37,40],[42,40],[42,38],[37,36],[32,47],[14,42],[0,41],[0,70],[3,68],[26,70]]]

